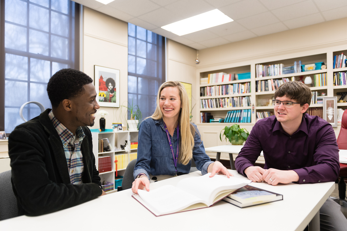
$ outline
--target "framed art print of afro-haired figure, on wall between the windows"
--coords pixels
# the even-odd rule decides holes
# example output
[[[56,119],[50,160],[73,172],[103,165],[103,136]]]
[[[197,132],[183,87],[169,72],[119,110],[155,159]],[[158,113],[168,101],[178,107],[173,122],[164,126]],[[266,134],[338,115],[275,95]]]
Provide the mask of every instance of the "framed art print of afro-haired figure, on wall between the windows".
[[[101,107],[119,107],[119,70],[94,65],[94,84]]]

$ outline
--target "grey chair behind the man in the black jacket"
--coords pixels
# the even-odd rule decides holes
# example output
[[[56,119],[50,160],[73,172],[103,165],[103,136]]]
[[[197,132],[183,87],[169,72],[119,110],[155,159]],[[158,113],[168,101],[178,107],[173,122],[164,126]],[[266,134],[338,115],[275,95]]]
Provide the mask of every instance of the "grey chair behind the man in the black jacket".
[[[12,190],[11,170],[0,173],[0,221],[18,216],[17,198]]]

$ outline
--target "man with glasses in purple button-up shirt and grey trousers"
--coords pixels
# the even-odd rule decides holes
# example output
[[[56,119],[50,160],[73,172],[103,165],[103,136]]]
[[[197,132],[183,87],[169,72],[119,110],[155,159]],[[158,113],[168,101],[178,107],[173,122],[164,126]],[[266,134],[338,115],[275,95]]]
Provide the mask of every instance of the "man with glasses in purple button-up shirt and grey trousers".
[[[302,82],[281,85],[273,100],[274,116],[258,121],[236,157],[235,167],[253,182],[298,184],[335,181],[339,150],[332,126],[306,114],[311,89]],[[265,167],[254,166],[264,153]],[[340,205],[328,198],[321,210],[321,230],[344,230],[347,220]],[[344,227],[344,228],[343,228]]]

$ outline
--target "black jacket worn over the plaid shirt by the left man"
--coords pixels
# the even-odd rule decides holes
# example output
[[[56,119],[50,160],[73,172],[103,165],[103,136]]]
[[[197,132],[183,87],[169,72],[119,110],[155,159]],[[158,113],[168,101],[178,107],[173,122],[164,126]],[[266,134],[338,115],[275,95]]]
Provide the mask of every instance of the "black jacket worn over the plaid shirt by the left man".
[[[12,187],[17,197],[18,215],[41,215],[90,201],[102,194],[99,172],[95,167],[92,134],[81,144],[83,184],[72,185],[64,148],[48,113],[18,125],[8,139]]]

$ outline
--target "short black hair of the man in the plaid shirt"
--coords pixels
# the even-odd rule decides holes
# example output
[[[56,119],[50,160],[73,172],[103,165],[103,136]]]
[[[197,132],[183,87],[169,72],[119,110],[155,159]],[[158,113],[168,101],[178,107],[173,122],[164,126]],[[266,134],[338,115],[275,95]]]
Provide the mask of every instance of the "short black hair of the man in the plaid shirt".
[[[93,79],[82,71],[67,68],[53,74],[47,84],[47,93],[52,107],[58,107],[64,99],[73,99],[83,94],[83,86]]]

